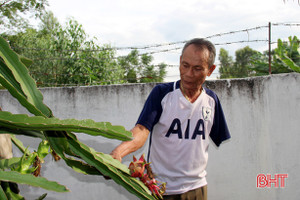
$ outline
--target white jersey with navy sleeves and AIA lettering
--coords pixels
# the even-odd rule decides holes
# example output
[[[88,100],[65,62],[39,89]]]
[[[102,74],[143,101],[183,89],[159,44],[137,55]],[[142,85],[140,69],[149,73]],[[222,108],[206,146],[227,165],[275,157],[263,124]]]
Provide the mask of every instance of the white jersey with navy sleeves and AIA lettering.
[[[216,94],[204,89],[191,103],[181,93],[180,81],[157,85],[137,124],[151,131],[148,161],[170,195],[206,185],[208,136],[217,146],[230,138]]]

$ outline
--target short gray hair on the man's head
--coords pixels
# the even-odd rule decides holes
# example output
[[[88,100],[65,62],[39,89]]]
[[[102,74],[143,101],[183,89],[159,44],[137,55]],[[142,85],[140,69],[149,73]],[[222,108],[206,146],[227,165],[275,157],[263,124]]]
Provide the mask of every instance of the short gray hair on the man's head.
[[[194,38],[185,43],[185,45],[182,49],[181,55],[183,54],[185,49],[192,44],[195,45],[199,49],[206,48],[209,51],[208,66],[209,67],[213,66],[213,64],[215,62],[215,57],[216,57],[216,48],[213,45],[213,43],[211,43],[210,41],[203,39],[203,38]]]

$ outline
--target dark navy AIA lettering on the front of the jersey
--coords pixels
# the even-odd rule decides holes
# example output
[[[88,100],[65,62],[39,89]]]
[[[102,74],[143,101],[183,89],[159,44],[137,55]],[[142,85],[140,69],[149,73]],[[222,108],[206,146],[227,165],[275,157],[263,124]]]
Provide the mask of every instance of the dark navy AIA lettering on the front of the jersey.
[[[166,137],[170,137],[171,134],[176,134],[178,139],[192,139],[195,140],[197,136],[202,136],[202,139],[205,140],[205,131],[204,131],[204,121],[199,119],[196,126],[192,129],[194,130],[190,134],[190,119],[188,119],[186,129],[183,133],[181,129],[181,121],[178,118],[175,118],[166,134]]]

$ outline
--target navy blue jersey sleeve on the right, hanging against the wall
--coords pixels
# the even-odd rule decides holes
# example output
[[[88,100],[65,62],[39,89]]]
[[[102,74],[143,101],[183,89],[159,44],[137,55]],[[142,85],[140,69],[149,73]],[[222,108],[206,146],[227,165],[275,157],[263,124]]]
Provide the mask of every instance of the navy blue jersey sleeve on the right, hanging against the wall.
[[[217,146],[220,146],[223,141],[229,139],[231,136],[227,127],[226,119],[219,98],[215,93],[211,92],[212,91],[208,91],[207,93],[210,93],[210,96],[215,99],[216,105],[214,124],[210,132],[210,138]]]

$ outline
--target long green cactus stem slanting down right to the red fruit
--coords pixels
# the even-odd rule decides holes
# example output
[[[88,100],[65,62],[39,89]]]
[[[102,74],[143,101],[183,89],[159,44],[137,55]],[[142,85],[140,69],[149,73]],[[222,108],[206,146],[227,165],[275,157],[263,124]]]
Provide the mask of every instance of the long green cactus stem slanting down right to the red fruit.
[[[49,135],[49,134],[48,134]],[[122,185],[129,192],[135,194],[141,199],[154,199],[148,188],[139,180],[129,175],[127,166],[119,161],[112,159],[110,155],[96,152],[83,143],[80,143],[76,136],[72,133],[64,133],[65,139],[68,138],[68,148],[77,155],[76,157],[83,159],[84,162],[68,158],[61,151],[63,148],[56,146],[53,149],[72,167],[76,172],[91,175],[103,175],[112,178],[116,183]],[[50,144],[53,137],[49,137]]]

